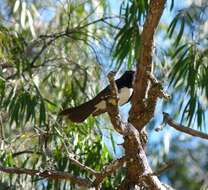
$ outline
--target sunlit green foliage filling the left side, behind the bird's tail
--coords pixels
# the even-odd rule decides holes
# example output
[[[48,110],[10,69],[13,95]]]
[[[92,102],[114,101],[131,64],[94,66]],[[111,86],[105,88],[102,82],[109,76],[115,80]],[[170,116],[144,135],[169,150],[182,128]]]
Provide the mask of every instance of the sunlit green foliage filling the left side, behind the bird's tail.
[[[0,164],[89,176],[69,156],[101,170],[112,160],[95,118],[81,125],[63,121],[63,107],[78,105],[97,91],[97,50],[110,30],[105,1],[4,1],[0,26]],[[44,20],[41,11],[49,21]],[[15,22],[15,25],[12,23]],[[96,34],[96,35],[95,35]],[[106,180],[111,187],[121,178]],[[76,189],[66,181],[1,175],[13,189]]]

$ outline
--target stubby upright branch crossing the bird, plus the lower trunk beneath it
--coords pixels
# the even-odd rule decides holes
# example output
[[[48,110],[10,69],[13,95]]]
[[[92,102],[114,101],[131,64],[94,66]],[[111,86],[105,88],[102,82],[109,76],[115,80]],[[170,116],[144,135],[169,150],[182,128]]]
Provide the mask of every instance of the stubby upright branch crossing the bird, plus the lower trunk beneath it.
[[[148,164],[145,151],[142,147],[139,131],[131,125],[131,123],[122,122],[118,109],[118,89],[114,80],[113,72],[108,74],[108,79],[110,82],[110,96],[107,99],[107,111],[113,127],[120,134],[124,135],[125,142],[128,142],[124,144],[126,156],[129,158],[129,162],[127,164],[130,163],[130,168],[128,168],[128,170],[133,171],[135,174],[129,180],[133,180],[131,183],[137,184],[141,182],[141,176],[145,176],[142,178],[142,183],[147,184],[149,189],[165,189],[156,176],[146,175],[153,172]],[[128,145],[128,147],[125,147],[125,145]],[[129,187],[122,187],[120,189],[129,189]]]

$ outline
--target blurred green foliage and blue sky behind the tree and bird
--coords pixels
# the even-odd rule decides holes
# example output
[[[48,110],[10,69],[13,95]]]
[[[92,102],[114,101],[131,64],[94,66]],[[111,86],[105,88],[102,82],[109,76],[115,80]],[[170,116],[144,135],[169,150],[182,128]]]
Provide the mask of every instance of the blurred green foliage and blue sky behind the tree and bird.
[[[166,110],[189,127],[207,130],[207,6],[206,0],[167,1],[156,35],[154,73],[172,99],[158,103],[148,128],[148,154],[155,169],[176,162],[161,175],[176,189],[206,185],[207,144],[168,128],[160,134],[152,129]],[[134,68],[147,9],[145,0],[0,3],[1,165],[90,177],[67,157],[101,170],[122,154],[117,145],[122,140],[105,115],[76,125],[58,112],[92,98],[110,69]],[[103,188],[114,188],[123,172],[106,179]],[[66,181],[26,175],[1,174],[0,183],[0,189],[77,189]]]

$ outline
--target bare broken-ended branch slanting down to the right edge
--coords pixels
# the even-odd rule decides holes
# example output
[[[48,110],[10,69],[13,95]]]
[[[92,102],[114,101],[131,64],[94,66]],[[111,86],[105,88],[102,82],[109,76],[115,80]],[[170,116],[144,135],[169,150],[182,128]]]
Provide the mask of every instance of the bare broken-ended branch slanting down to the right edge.
[[[170,127],[173,127],[174,129],[184,132],[186,134],[195,136],[195,137],[200,137],[202,139],[208,139],[208,134],[205,134],[203,132],[191,129],[189,127],[186,127],[184,125],[181,125],[179,123],[176,123],[175,121],[173,121],[173,119],[169,116],[168,113],[163,112],[163,118],[164,118],[164,122],[166,122]]]

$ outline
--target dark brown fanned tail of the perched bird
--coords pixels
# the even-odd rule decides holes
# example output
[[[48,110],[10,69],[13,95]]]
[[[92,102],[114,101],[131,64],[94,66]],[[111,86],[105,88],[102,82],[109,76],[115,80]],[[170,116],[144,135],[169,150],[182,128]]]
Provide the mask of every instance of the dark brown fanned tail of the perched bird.
[[[90,100],[74,108],[67,108],[60,112],[60,115],[66,115],[72,122],[83,122],[91,113],[95,111],[95,106]]]

